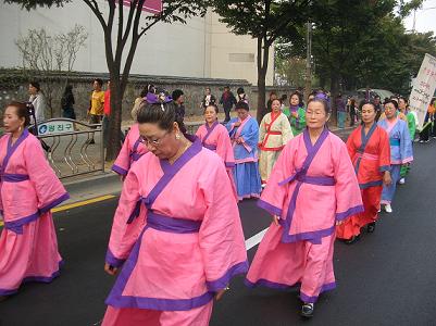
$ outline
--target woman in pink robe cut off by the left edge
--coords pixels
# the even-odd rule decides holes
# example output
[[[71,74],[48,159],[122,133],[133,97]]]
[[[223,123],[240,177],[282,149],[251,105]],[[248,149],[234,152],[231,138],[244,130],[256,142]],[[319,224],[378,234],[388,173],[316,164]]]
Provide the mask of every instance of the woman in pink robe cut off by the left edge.
[[[39,140],[28,133],[26,104],[12,102],[0,139],[0,296],[15,293],[25,281],[50,283],[61,255],[50,210],[68,199],[47,163]]]

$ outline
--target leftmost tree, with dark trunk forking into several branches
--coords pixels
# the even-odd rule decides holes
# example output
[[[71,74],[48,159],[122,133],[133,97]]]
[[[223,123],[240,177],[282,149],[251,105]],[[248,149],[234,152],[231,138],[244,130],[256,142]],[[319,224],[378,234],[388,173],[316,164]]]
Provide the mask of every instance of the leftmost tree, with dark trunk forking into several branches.
[[[16,3],[27,10],[36,7],[61,7],[71,0],[3,0]],[[120,128],[122,100],[128,83],[128,76],[138,41],[158,23],[185,24],[195,15],[204,15],[209,1],[205,0],[165,0],[159,14],[146,14],[142,11],[145,0],[133,0],[130,7],[123,5],[123,0],[83,0],[101,25],[104,36],[105,59],[111,79],[111,120],[109,126],[109,146],[107,160],[114,160],[121,149]],[[100,5],[109,7],[104,15]]]

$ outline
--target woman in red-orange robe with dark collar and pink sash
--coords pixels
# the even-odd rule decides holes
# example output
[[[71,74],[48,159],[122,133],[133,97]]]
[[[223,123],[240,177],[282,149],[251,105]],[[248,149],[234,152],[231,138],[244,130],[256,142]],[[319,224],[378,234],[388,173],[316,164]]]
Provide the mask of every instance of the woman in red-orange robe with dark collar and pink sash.
[[[336,227],[336,237],[346,243],[356,242],[365,225],[369,233],[375,230],[383,184],[391,183],[389,136],[377,126],[373,103],[364,102],[361,112],[362,125],[348,137],[347,149],[358,176],[364,212]]]

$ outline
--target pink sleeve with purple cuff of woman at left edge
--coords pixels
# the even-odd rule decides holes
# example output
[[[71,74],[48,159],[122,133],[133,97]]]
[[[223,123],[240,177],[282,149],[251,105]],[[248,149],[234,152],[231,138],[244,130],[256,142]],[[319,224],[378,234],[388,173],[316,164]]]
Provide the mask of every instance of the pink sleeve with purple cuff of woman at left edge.
[[[35,187],[38,209],[45,213],[67,200],[70,196],[47,162],[39,141],[36,138],[26,141],[26,149],[23,153],[27,173]]]

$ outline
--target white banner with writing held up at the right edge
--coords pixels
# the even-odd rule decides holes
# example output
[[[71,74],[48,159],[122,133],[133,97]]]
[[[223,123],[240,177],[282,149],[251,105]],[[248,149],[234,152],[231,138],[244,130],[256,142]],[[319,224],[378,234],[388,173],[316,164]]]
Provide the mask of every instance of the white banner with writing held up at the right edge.
[[[418,115],[418,129],[424,125],[425,114],[436,89],[436,58],[425,53],[420,72],[410,92],[409,105]]]

